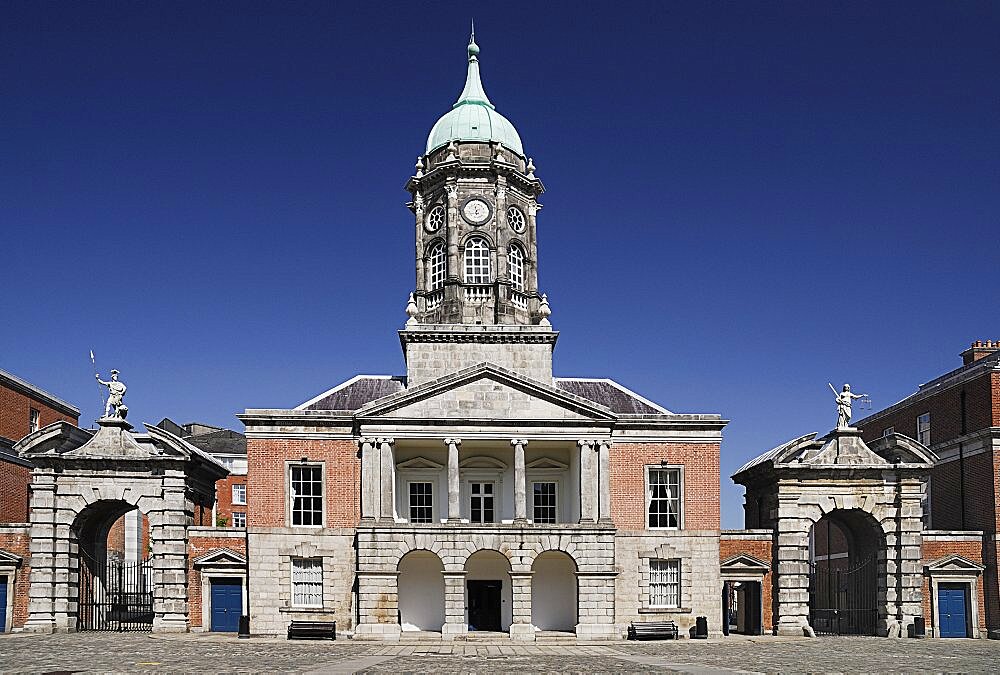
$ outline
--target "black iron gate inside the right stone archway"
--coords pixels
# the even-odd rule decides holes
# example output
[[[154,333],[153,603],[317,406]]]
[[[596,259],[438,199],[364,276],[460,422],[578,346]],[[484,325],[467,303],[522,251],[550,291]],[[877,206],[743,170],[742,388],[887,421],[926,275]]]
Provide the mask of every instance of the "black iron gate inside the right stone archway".
[[[878,560],[869,556],[844,569],[810,565],[809,624],[819,635],[875,635]]]

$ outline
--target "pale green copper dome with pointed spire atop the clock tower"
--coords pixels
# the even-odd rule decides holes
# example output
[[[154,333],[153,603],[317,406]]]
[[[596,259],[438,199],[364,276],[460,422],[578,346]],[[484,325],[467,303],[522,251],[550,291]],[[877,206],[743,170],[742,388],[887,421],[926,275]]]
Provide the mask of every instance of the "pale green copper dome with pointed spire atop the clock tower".
[[[469,74],[458,101],[439,119],[427,136],[427,153],[451,141],[499,142],[524,156],[521,137],[506,117],[496,111],[479,79],[479,45],[469,42]]]

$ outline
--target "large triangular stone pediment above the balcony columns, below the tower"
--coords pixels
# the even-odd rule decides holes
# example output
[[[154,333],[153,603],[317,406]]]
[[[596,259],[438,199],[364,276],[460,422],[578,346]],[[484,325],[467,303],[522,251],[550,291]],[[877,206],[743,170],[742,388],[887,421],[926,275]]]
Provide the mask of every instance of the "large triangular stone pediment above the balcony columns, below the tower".
[[[386,396],[359,418],[600,420],[616,415],[602,405],[490,363],[481,363]]]

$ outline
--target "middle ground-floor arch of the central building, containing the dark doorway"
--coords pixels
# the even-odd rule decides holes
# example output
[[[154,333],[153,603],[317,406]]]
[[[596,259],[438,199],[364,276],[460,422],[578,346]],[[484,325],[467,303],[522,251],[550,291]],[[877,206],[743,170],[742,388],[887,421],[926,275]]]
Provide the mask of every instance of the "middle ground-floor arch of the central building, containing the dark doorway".
[[[470,631],[509,631],[513,616],[510,561],[476,551],[465,561],[465,622]]]

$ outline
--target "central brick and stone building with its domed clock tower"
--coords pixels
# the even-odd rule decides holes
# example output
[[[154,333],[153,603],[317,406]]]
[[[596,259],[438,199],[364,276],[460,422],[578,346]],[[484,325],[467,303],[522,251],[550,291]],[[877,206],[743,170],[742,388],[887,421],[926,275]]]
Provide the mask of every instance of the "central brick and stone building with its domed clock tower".
[[[248,409],[251,626],[621,637],[720,629],[726,424],[610,379],[555,377],[544,188],[486,96],[479,47],[406,183],[415,287],[401,376]]]

